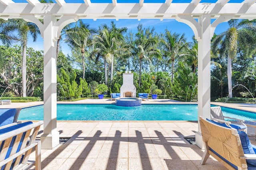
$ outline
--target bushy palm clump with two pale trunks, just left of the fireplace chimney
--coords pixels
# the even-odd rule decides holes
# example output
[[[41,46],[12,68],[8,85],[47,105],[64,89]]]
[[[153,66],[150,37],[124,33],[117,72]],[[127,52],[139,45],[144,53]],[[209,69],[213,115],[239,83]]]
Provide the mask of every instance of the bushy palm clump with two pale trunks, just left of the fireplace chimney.
[[[123,34],[127,31],[126,27],[116,28],[116,24],[111,21],[111,27],[108,27],[106,24],[101,25],[99,28],[98,35],[94,36],[94,52],[93,55],[98,57],[103,57],[104,67],[105,67],[105,84],[108,82],[108,73],[106,65],[111,64],[108,67],[110,70],[110,82],[113,80],[113,70],[114,70],[114,58],[122,55],[127,49],[121,48],[121,44],[124,41]]]

